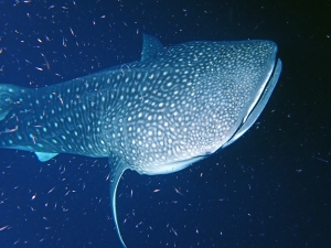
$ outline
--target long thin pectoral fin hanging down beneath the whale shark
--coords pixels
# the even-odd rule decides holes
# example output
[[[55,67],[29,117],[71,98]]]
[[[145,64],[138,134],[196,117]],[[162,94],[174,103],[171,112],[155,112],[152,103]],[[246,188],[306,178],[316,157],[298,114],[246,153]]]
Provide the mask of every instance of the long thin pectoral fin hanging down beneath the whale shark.
[[[109,157],[109,169],[110,169],[110,205],[111,205],[113,217],[114,217],[114,222],[115,222],[115,226],[116,226],[116,230],[117,230],[119,240],[120,240],[122,247],[126,248],[127,246],[121,238],[118,222],[117,222],[116,191],[117,191],[117,186],[118,186],[120,176],[128,169],[128,166],[118,157],[111,155],[111,157]]]

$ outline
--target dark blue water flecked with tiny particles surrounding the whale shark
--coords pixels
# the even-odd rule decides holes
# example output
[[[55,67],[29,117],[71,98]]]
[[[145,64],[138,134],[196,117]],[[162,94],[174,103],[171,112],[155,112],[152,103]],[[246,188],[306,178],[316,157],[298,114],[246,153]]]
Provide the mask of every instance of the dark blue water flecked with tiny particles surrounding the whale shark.
[[[330,3],[86,2],[0,1],[0,82],[42,87],[139,60],[142,32],[273,40],[284,63],[234,144],[174,174],[125,173],[128,247],[331,247]],[[0,150],[0,247],[119,248],[108,172],[107,159]]]

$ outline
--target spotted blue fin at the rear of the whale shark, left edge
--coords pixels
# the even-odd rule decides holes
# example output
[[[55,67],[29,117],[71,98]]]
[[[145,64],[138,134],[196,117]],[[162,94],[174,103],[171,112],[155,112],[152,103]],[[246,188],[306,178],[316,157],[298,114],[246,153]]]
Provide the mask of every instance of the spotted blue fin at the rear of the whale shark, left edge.
[[[0,120],[3,120],[14,104],[20,101],[20,95],[24,91],[15,85],[0,84]]]

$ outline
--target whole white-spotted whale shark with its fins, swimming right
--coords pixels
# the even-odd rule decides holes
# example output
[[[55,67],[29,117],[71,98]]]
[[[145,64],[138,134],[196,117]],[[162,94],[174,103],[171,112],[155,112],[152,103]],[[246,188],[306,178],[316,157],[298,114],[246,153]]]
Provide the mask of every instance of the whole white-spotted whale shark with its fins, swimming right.
[[[188,42],[164,48],[143,35],[140,62],[39,89],[0,84],[0,147],[108,157],[118,236],[121,174],[182,170],[238,139],[277,84],[270,41]]]

